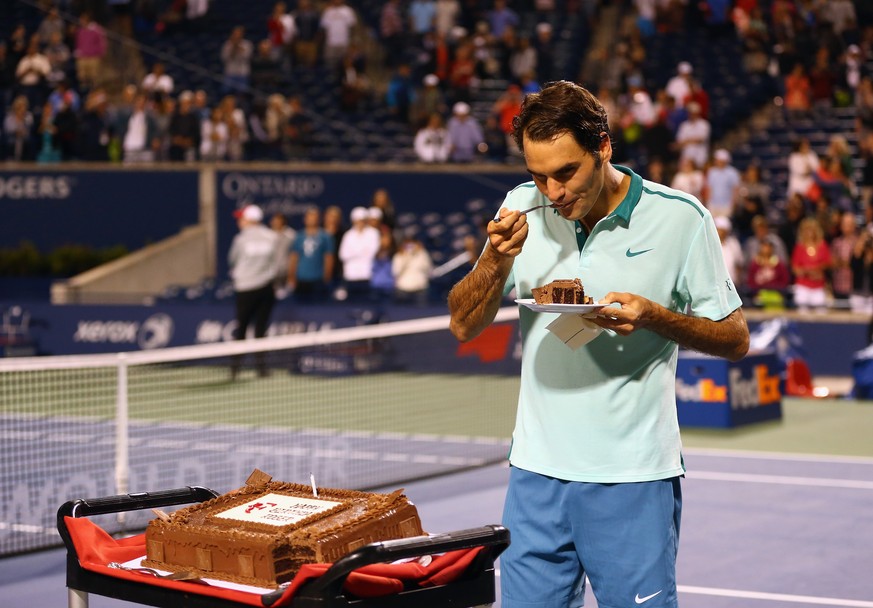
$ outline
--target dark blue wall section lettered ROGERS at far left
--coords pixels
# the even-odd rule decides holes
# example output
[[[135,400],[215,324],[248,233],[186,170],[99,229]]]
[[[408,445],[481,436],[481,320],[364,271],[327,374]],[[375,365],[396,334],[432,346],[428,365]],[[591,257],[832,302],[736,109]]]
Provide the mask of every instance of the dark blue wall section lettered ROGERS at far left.
[[[196,171],[0,171],[0,247],[135,250],[199,221]]]

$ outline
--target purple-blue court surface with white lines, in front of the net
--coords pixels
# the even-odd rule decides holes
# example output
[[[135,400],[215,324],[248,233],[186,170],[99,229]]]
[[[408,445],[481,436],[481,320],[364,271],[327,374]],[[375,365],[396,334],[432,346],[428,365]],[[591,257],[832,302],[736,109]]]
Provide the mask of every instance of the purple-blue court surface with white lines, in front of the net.
[[[689,448],[686,461],[684,608],[873,608],[873,458]],[[499,522],[507,477],[492,465],[406,491],[426,529],[443,532]],[[61,550],[4,559],[2,604],[66,605],[63,560]],[[590,590],[586,602],[597,605]],[[126,605],[91,597],[94,608]]]

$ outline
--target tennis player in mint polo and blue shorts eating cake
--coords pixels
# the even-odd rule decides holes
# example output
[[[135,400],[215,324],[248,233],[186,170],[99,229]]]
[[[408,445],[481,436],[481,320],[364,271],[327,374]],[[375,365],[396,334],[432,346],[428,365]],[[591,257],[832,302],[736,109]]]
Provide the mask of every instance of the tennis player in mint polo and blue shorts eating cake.
[[[749,332],[712,216],[684,192],[613,165],[606,111],[557,82],[525,98],[514,137],[533,181],[512,190],[474,269],[449,294],[470,340],[504,295],[578,277],[607,304],[573,350],[520,310],[521,389],[501,557],[503,608],[677,606],[685,472],[679,346],[735,361]],[[520,213],[536,205],[552,206]]]

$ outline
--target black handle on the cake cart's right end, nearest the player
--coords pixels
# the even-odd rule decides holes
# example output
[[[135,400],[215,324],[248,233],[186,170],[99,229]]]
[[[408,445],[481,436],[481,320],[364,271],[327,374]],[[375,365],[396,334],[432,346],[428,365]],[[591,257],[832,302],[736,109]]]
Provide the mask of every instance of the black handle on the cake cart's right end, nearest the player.
[[[324,594],[336,597],[348,575],[369,564],[395,561],[407,557],[445,553],[459,549],[489,547],[488,559],[493,563],[500,553],[509,546],[509,530],[504,526],[492,524],[468,530],[457,530],[432,536],[415,536],[370,543],[338,559],[317,579],[307,584],[307,594]],[[271,606],[278,600],[284,589],[267,593],[262,597],[264,606]]]

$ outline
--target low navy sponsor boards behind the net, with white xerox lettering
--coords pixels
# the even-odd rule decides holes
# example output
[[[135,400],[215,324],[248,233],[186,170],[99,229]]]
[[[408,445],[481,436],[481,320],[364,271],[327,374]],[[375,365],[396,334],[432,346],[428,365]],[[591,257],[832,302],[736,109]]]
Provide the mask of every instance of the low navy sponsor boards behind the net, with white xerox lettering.
[[[155,350],[233,340],[233,302],[158,306],[14,307],[3,322],[5,356],[71,355]],[[11,310],[11,309],[10,309]],[[444,307],[389,306],[385,320],[405,321],[446,314]],[[368,309],[346,305],[302,306],[279,302],[268,335],[289,335],[353,327],[371,322]],[[446,324],[448,326],[448,324]],[[25,352],[26,347],[26,352]],[[0,355],[4,355],[0,350]],[[419,353],[427,352],[427,356]],[[381,371],[517,374],[518,323],[495,323],[482,335],[459,343],[447,330],[410,333],[322,348],[308,347],[295,358],[295,372],[342,376]]]

